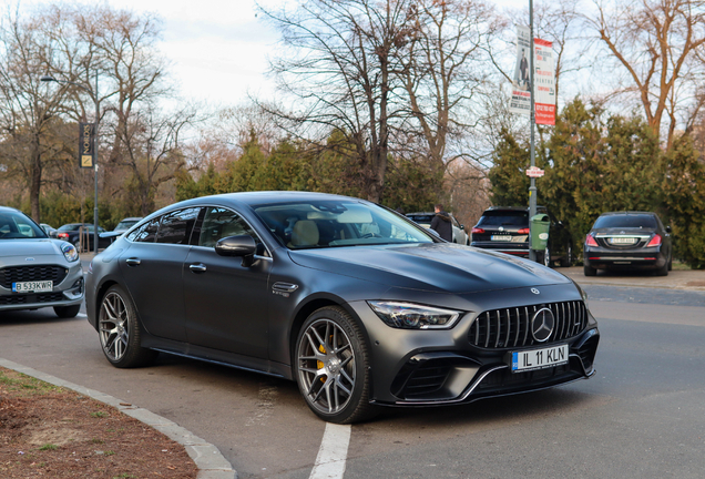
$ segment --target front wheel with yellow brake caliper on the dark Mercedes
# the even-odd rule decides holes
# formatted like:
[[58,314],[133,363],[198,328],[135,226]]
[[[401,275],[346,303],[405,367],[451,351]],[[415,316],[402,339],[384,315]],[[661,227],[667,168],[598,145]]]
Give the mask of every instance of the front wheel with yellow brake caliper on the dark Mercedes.
[[299,391],[316,416],[336,424],[374,416],[367,342],[345,309],[327,306],[311,314],[298,334],[295,355]]

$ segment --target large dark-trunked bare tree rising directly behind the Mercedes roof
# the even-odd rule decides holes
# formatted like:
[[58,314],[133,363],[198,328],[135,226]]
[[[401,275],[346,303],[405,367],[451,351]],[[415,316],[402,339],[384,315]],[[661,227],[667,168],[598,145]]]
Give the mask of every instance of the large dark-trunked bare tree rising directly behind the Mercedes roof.
[[316,139],[318,145],[334,131],[344,134],[347,144],[339,153],[359,164],[364,195],[380,201],[401,110],[395,53],[413,30],[409,3],[311,0],[294,11],[263,11],[286,47],[272,70],[295,99],[288,112],[269,111],[290,122],[290,133]]

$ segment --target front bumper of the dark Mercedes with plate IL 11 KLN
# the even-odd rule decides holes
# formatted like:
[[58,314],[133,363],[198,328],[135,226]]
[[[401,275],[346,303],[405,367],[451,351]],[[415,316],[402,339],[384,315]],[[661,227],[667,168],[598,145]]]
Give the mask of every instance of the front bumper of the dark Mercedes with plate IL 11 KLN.
[[[522,300],[517,299],[518,304]],[[589,317],[575,334],[566,333],[561,339],[551,339],[541,346],[488,348],[477,347],[468,339],[479,316],[472,313],[452,329],[403,330],[392,329],[369,316],[365,303],[350,306],[362,319],[370,337],[370,397],[375,404],[403,407],[467,404],[540,390],[589,378],[595,373],[600,332],[586,309]],[[525,373],[511,371],[510,353],[559,344],[568,345],[566,364]]]

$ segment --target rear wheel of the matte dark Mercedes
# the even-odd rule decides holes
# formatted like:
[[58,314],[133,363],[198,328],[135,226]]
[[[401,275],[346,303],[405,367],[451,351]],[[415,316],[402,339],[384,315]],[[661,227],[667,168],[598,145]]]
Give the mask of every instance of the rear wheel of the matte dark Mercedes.
[[130,296],[117,285],[108,289],[101,300],[98,335],[105,358],[115,367],[144,366],[157,355],[141,346],[142,328],[137,310]]

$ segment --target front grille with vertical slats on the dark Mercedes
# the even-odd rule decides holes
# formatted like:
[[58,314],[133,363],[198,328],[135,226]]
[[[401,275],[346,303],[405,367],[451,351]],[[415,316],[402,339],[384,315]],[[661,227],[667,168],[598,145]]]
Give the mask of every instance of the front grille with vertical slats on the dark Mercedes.
[[[588,326],[588,312],[581,300],[539,304],[481,313],[470,326],[470,344],[481,348],[502,349],[532,346],[531,318],[541,308],[553,313],[555,324],[548,343],[568,339]],[[544,342],[544,343],[546,343]]]

